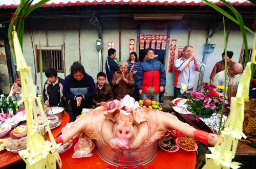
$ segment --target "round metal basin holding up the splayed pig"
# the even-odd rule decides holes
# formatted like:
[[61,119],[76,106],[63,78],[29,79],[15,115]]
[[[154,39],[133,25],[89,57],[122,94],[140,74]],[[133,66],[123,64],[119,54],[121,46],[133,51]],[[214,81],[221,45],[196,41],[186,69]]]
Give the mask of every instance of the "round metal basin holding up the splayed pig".
[[158,150],[158,142],[154,142],[133,152],[123,151],[125,159],[125,163],[123,164],[120,153],[114,152],[97,140],[95,140],[95,145],[96,152],[103,161],[115,166],[122,165],[123,167],[127,167],[128,165],[136,167],[150,163],[156,157]]

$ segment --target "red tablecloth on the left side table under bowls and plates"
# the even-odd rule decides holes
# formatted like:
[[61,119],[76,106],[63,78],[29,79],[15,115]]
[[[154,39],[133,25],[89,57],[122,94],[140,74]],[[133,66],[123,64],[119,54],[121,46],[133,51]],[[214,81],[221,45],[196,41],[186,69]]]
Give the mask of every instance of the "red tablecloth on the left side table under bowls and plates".
[[[69,122],[69,114],[67,112],[64,112],[64,116],[61,119],[59,119],[59,121],[60,121],[60,125],[51,130],[54,138],[60,135],[61,133],[60,130],[64,126],[66,126],[66,124]],[[8,134],[6,134],[1,138],[9,138],[11,131],[12,130],[10,130]],[[50,140],[48,134],[47,134],[47,139]],[[0,152],[0,168],[14,165],[15,163],[20,161],[22,161],[22,158],[19,156],[18,153],[12,153],[7,150],[3,150],[2,152]]]

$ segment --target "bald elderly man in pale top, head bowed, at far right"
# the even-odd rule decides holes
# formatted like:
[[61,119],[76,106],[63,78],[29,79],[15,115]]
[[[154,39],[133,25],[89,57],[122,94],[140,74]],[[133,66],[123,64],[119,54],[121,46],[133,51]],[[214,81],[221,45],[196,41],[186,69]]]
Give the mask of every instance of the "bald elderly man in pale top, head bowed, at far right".
[[[239,63],[232,64],[227,69],[227,83],[232,85],[238,85],[241,73],[243,71],[243,65]],[[224,86],[224,80],[225,80],[225,70],[217,73],[214,77],[214,85],[216,86]]]

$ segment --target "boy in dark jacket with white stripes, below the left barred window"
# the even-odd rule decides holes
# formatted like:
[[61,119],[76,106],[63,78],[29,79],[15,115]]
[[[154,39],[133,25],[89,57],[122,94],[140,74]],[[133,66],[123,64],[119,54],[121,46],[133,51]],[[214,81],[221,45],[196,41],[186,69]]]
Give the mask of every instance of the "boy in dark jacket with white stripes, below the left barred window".
[[55,69],[49,68],[45,71],[47,81],[44,86],[44,102],[45,106],[65,106],[62,94],[62,84],[64,80],[57,75]]

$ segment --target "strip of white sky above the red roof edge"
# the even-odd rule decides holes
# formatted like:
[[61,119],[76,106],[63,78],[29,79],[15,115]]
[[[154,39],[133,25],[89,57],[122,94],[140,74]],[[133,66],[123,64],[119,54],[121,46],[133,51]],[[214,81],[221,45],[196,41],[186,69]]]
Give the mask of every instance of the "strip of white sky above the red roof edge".
[[[84,2],[86,0],[51,0],[49,1],[47,4],[51,4],[51,3],[60,3],[60,2],[63,2],[63,3],[67,3],[67,2],[77,2],[77,1],[80,1],[80,2]],[[94,0],[87,0],[89,2],[93,2]],[[102,0],[99,0],[99,2],[101,2]],[[110,2],[112,0],[105,0],[106,2]],[[115,0],[117,2],[119,2],[119,0]],[[124,2],[128,2],[130,0],[123,0]],[[135,2],[137,0],[134,0]],[[141,2],[146,2],[147,0],[141,0]],[[151,2],[155,2],[157,0],[150,0]],[[161,2],[164,2],[166,0],[158,0],[160,3]],[[183,2],[183,1],[187,1],[187,2],[191,2],[191,1],[194,1],[196,3],[198,2],[201,2],[201,0],[169,0],[169,2],[173,2],[173,1],[177,1],[178,3],[179,2]],[[209,0],[210,2],[219,2],[219,0]],[[245,2],[246,0],[227,0],[228,2]],[[35,4],[36,2],[39,2],[39,0],[34,0],[33,4]],[[11,5],[11,4],[19,4],[20,3],[20,0],[0,0],[0,5],[3,5],[3,4],[6,4],[6,5]]]

